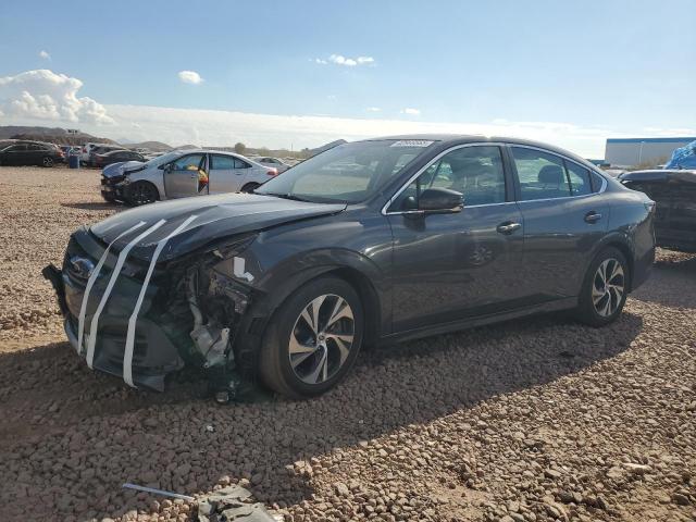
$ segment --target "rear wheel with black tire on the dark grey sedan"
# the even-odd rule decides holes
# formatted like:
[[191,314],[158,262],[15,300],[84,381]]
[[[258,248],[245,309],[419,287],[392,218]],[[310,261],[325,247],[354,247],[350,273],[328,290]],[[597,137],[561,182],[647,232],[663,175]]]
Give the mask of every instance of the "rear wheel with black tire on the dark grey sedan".
[[587,269],[576,319],[589,326],[606,326],[621,314],[630,281],[629,262],[620,250],[601,250]]

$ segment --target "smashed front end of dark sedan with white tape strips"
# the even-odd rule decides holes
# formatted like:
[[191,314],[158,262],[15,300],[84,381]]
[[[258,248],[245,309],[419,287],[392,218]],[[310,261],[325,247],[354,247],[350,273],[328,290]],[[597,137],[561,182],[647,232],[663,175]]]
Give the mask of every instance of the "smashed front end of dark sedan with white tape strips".
[[253,380],[253,364],[235,355],[253,290],[234,277],[236,254],[253,237],[158,263],[166,241],[147,257],[124,256],[126,249],[111,251],[83,228],[62,270],[49,265],[44,275],[71,344],[90,368],[161,391],[167,374],[189,365],[206,372],[217,400],[228,400]]

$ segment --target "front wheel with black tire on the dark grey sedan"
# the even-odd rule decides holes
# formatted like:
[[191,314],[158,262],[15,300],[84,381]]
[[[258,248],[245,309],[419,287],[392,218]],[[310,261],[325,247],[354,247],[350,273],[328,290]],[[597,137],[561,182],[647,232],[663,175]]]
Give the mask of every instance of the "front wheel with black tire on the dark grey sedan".
[[[315,316],[319,327],[311,324]],[[324,394],[350,372],[363,333],[363,309],[355,288],[333,276],[311,281],[273,314],[262,339],[261,380],[296,399]]]

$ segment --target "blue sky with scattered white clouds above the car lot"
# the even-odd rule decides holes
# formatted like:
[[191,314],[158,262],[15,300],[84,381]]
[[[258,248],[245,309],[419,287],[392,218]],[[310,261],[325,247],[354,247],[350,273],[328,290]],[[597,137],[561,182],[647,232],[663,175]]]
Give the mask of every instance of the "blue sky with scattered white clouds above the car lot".
[[446,132],[592,158],[696,136],[695,0],[101,5],[0,4],[0,125],[294,149]]

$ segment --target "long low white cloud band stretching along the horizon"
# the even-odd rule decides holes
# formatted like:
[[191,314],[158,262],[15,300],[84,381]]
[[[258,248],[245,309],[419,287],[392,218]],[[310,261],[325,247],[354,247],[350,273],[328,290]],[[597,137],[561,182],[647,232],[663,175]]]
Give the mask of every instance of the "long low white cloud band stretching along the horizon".
[[[295,149],[318,147],[334,139],[363,139],[398,134],[478,134],[535,139],[564,147],[585,158],[604,157],[605,140],[626,136],[616,130],[581,127],[558,122],[436,123],[386,119],[348,119],[325,115],[275,115],[232,111],[170,109],[163,107],[108,105],[116,120],[110,129],[114,138],[127,136],[134,141],[157,139],[172,145],[200,144]],[[135,129],[132,122],[138,122]],[[692,129],[692,135],[696,130]],[[688,134],[687,134],[688,135]]]

